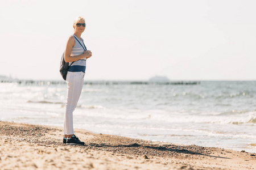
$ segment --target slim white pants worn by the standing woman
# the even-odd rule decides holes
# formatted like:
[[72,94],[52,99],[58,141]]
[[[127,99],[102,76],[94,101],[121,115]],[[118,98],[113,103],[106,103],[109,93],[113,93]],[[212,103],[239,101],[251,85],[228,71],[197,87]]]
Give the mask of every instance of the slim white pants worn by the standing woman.
[[73,111],[75,111],[77,101],[81,95],[82,84],[84,84],[84,73],[68,71],[66,82],[68,92],[64,115],[64,135],[71,135],[74,134]]

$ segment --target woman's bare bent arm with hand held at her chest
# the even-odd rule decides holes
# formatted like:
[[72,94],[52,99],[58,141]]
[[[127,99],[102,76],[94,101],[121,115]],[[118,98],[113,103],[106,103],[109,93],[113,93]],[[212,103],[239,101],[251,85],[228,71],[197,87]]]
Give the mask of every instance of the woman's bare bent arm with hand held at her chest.
[[65,54],[64,54],[65,62],[77,61],[81,58],[90,58],[90,56],[92,56],[92,52],[90,52],[89,50],[84,51],[84,53],[80,54],[79,56],[70,56],[74,45],[75,45],[75,38],[73,36],[70,36],[65,48]]

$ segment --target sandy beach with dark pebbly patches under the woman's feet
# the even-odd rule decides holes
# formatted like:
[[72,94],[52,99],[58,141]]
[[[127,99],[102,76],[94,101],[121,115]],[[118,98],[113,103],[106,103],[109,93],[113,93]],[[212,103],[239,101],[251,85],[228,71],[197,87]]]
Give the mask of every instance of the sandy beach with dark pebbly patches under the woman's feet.
[[245,151],[173,145],[76,129],[85,146],[62,142],[57,127],[0,121],[0,169],[256,169]]

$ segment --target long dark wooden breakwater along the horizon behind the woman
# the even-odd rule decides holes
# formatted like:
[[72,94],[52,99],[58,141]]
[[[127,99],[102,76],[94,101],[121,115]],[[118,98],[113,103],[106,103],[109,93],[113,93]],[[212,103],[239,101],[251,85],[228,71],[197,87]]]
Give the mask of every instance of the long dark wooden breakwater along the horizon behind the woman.
[[[18,83],[24,85],[56,85],[56,84],[66,84],[64,80],[0,80],[0,83]],[[198,85],[199,81],[170,81],[170,82],[150,82],[150,81],[86,81],[84,84],[88,85]]]

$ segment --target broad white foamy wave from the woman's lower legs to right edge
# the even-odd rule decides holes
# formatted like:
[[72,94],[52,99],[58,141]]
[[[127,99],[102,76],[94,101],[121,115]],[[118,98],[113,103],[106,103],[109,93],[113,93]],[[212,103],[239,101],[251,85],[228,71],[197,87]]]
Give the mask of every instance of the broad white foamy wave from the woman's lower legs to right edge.
[[[87,110],[87,111],[86,111]],[[218,112],[168,112],[164,110],[141,110],[108,108],[103,105],[80,105],[76,114],[90,118],[106,118],[123,122],[155,122],[156,124],[253,124],[256,125],[256,112],[242,114],[220,114]]]

